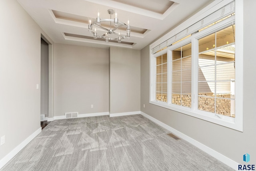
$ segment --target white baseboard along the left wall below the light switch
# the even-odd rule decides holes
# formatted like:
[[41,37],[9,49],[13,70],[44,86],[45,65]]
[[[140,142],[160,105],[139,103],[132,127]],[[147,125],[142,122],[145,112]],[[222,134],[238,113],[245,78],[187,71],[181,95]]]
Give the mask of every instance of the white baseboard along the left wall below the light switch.
[[12,159],[20,150],[22,150],[36,135],[38,135],[42,131],[42,128],[38,128],[34,133],[32,133],[29,137],[27,137],[22,143],[20,143],[17,147],[15,147],[8,155],[6,155],[3,159],[0,160],[0,169]]

